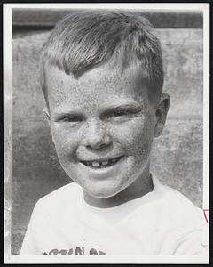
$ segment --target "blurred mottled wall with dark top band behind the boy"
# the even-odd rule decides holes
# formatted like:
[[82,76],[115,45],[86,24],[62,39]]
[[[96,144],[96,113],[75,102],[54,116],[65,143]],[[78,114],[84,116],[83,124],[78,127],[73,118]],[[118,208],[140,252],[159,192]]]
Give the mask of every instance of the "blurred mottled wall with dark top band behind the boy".
[[[39,50],[55,23],[76,10],[12,10],[12,254],[19,254],[38,198],[67,184],[43,115]],[[162,42],[170,111],[154,141],[152,173],[202,207],[202,13],[140,12]]]

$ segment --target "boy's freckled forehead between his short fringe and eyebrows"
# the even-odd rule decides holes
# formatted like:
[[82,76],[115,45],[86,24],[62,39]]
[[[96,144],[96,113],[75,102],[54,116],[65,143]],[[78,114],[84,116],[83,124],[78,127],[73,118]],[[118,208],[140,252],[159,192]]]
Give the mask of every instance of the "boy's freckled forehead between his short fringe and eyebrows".
[[88,99],[126,96],[136,101],[144,101],[147,96],[141,71],[133,68],[121,71],[119,68],[110,69],[107,65],[90,69],[79,78],[51,66],[46,71],[46,85],[49,97],[58,104],[69,98],[82,98],[83,95]]

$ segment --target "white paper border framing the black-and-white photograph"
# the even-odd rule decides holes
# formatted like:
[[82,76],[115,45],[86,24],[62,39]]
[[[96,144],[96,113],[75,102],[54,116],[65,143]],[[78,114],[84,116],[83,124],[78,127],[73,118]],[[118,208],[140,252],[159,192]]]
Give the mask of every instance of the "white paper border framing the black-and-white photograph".
[[[12,9],[143,9],[149,11],[203,13],[203,210],[209,210],[209,3],[82,3],[82,4],[4,4],[4,263],[209,263],[202,256],[101,256],[12,255],[11,178],[12,178]],[[208,233],[204,233],[209,236]]]

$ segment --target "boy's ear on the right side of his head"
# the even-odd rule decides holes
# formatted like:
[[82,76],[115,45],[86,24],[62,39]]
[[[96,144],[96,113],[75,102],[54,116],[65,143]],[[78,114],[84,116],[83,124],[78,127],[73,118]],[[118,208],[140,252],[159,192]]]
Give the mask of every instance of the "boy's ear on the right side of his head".
[[170,95],[162,93],[162,97],[155,111],[156,124],[154,128],[154,137],[158,137],[162,134],[163,127],[166,122],[167,112],[170,108]]

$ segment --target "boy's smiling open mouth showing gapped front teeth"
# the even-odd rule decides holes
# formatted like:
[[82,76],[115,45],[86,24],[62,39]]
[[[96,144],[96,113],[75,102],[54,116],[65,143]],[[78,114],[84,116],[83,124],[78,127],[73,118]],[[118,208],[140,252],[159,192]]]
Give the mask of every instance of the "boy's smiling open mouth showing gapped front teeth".
[[88,161],[80,161],[85,166],[89,166],[92,169],[102,169],[109,166],[114,166],[118,161],[120,161],[124,156],[120,156],[117,158],[110,158],[105,160],[88,160]]

